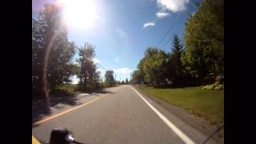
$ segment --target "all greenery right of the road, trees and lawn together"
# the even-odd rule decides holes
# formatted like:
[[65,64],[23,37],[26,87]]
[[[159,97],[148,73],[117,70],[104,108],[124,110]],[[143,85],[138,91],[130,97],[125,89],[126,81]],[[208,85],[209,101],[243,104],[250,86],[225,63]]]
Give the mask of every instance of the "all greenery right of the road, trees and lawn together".
[[223,20],[224,1],[198,4],[198,11],[185,24],[184,42],[174,34],[170,51],[148,47],[131,82],[211,123],[223,122]]

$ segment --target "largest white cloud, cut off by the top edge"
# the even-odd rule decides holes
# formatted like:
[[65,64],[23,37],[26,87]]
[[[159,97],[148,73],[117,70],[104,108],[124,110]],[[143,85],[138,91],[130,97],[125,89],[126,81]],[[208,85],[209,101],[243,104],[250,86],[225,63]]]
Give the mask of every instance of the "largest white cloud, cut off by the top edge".
[[157,2],[163,10],[170,10],[175,13],[186,10],[186,4],[189,3],[189,0],[157,0]]

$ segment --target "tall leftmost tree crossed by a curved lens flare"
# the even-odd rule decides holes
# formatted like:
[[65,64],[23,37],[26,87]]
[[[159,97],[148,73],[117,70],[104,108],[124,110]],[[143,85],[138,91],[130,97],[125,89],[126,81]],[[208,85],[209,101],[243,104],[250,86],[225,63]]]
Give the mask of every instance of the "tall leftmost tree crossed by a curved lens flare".
[[74,43],[68,42],[66,28],[61,25],[61,10],[46,4],[32,21],[32,92],[48,96],[48,90],[70,82]]

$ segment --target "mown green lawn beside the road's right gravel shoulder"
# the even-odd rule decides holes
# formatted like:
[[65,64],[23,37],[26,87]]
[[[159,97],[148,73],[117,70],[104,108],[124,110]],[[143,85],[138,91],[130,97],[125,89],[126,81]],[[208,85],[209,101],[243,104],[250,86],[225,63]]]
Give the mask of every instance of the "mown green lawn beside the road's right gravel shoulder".
[[202,90],[202,86],[179,89],[141,86],[141,89],[174,106],[181,106],[190,114],[205,118],[210,124],[224,122],[224,90]]

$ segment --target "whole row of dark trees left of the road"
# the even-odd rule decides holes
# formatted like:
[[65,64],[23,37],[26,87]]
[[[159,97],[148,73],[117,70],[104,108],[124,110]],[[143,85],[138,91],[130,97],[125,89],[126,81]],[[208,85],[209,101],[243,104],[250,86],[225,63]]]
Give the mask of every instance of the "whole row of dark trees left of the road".
[[[114,86],[113,70],[106,70],[106,80],[102,82],[93,60],[95,46],[85,42],[85,46],[78,47],[68,40],[61,13],[58,6],[46,4],[38,20],[32,21],[33,96],[54,94],[60,86],[69,85],[74,75],[79,79],[77,89],[80,91]],[[78,58],[75,59],[76,53]]]

